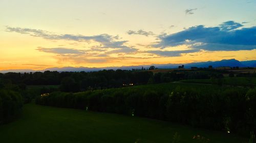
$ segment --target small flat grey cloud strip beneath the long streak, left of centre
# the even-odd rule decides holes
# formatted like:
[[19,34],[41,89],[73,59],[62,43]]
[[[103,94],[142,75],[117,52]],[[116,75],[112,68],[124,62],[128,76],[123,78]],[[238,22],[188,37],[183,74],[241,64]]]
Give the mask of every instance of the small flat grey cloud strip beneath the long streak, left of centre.
[[48,53],[57,53],[57,54],[84,54],[84,50],[72,49],[72,48],[44,48],[44,47],[37,47],[38,51],[48,52]]

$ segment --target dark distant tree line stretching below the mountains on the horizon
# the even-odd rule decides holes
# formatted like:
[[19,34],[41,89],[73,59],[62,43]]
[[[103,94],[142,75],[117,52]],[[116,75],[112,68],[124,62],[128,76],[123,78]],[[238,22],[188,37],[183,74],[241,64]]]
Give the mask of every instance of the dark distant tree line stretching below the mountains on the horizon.
[[0,79],[20,87],[25,85],[61,85],[62,92],[80,92],[95,89],[121,88],[127,85],[163,83],[184,79],[222,78],[215,70],[186,71],[177,70],[168,73],[155,73],[151,70],[102,70],[97,72],[57,72],[0,73]]

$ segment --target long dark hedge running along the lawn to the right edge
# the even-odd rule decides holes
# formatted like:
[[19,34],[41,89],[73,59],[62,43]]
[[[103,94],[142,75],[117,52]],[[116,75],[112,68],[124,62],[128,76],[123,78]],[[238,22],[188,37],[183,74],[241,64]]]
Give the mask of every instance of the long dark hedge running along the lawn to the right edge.
[[256,131],[256,90],[161,83],[42,94],[37,104],[120,113],[248,135]]

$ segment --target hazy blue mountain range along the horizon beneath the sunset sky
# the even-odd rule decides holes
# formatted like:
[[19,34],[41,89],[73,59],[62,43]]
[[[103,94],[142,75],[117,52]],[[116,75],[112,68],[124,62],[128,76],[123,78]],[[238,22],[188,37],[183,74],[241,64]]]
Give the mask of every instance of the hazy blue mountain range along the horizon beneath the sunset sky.
[[122,66],[122,67],[103,67],[103,68],[88,68],[88,67],[53,67],[53,68],[47,68],[44,70],[31,70],[31,69],[15,69],[15,70],[0,70],[0,73],[7,73],[7,72],[44,72],[44,71],[70,71],[70,72],[91,72],[91,71],[99,71],[99,70],[132,70],[132,69],[141,69],[142,67],[147,69],[150,66],[155,66],[159,69],[173,69],[178,68],[178,66],[184,65],[184,68],[188,69],[191,67],[198,67],[198,68],[204,68],[208,66],[212,66],[214,68],[216,67],[256,67],[256,60],[252,61],[238,61],[236,59],[230,59],[230,60],[221,60],[221,61],[208,61],[208,62],[196,62],[196,63],[188,63],[188,64],[152,64],[152,65],[139,65],[139,66]]

